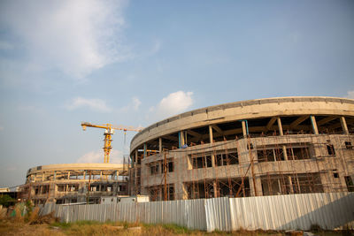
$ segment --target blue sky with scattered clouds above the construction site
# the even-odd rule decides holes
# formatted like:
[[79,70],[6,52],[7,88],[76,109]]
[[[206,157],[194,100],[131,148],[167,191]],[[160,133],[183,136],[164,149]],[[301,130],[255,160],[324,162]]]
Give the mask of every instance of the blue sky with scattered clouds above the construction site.
[[[354,1],[0,1],[0,187],[102,163],[104,130],[293,95],[354,98]],[[135,132],[117,132],[112,163]]]

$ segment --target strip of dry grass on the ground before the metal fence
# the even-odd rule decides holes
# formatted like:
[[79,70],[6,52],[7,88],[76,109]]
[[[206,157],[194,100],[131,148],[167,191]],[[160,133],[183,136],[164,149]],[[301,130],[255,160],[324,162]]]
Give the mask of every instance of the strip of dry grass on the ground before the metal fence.
[[[35,210],[34,210],[35,212]],[[117,227],[120,226],[120,227]],[[140,230],[129,230],[132,227],[141,227]],[[341,232],[330,232],[330,235],[341,235]],[[63,235],[95,235],[95,236],[145,236],[145,235],[235,235],[235,236],[273,236],[284,235],[283,232],[264,232],[264,231],[237,231],[237,232],[203,232],[193,231],[178,225],[144,225],[128,224],[122,222],[99,223],[93,221],[80,221],[74,224],[52,223],[41,225],[30,225],[14,220],[0,220],[0,235],[25,235],[25,236],[63,236]],[[326,233],[320,235],[327,235]],[[329,235],[329,234],[328,234]]]

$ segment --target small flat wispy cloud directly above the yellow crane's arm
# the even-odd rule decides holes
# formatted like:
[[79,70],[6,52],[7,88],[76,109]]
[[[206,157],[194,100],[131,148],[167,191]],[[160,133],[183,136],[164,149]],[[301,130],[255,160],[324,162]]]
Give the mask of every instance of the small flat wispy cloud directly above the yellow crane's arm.
[[76,110],[81,107],[87,107],[90,110],[99,112],[110,112],[112,109],[106,105],[104,100],[101,99],[87,99],[83,97],[76,97],[70,104],[66,106],[67,110]]

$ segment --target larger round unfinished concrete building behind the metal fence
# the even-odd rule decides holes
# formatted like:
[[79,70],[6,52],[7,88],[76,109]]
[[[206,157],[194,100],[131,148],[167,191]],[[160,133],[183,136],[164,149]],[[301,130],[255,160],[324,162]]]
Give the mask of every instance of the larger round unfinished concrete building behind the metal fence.
[[191,110],[131,141],[151,201],[353,191],[354,100],[257,99]]

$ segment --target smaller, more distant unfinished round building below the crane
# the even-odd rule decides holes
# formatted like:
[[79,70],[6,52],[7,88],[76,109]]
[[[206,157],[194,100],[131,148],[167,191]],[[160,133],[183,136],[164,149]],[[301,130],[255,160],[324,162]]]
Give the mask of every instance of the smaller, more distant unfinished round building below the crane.
[[21,199],[45,202],[98,203],[101,196],[127,195],[127,164],[50,164],[27,171]]

